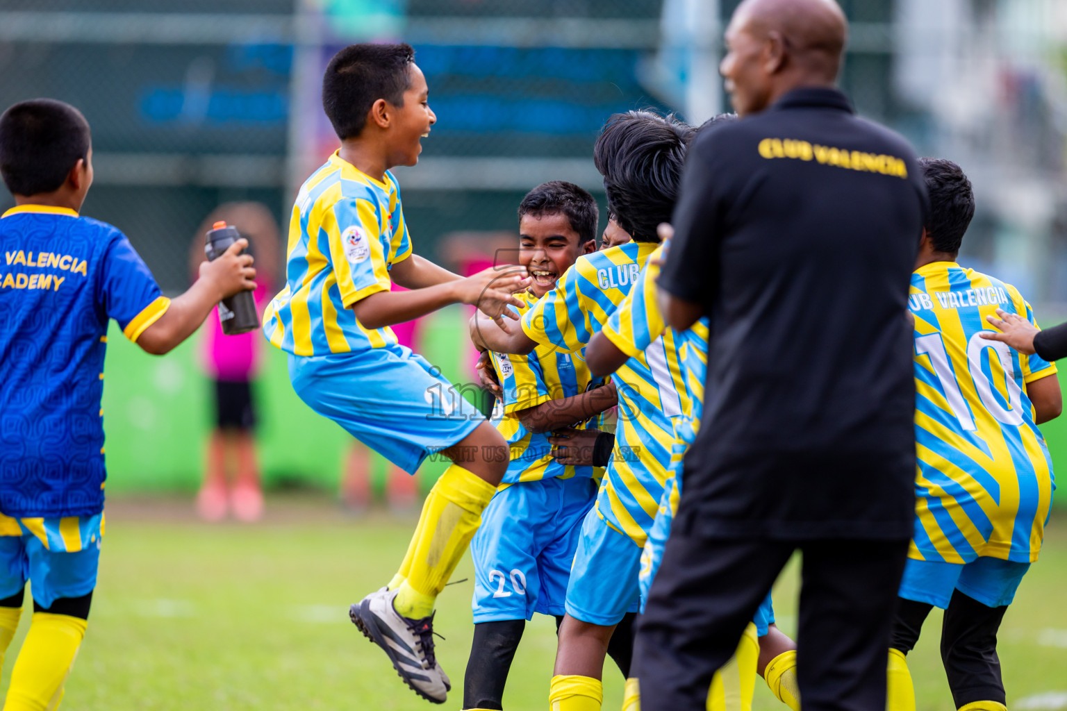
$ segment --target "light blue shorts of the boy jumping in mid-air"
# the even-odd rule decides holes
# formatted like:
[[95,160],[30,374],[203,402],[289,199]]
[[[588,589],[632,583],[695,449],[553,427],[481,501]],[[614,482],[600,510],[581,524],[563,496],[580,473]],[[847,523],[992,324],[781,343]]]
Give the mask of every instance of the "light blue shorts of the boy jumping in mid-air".
[[308,407],[410,473],[485,421],[436,368],[403,345],[290,355],[289,379]]

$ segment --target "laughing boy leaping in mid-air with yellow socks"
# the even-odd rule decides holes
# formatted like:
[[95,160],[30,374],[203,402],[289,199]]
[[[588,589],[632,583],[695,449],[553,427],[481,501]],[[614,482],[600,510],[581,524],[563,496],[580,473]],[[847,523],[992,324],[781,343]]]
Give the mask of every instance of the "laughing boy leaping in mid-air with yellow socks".
[[[443,306],[507,305],[525,268],[461,278],[412,254],[389,168],[414,165],[436,120],[409,45],[352,45],[330,61],[322,107],[340,149],[301,187],[289,223],[286,286],[264,333],[288,354],[293,389],[315,411],[414,473],[433,452],[452,460],[434,484],[388,585],[350,609],[419,696],[451,688],[433,653],[433,605],[507,471],[507,442],[451,384],[397,343],[392,324]],[[392,291],[393,282],[409,291]]]

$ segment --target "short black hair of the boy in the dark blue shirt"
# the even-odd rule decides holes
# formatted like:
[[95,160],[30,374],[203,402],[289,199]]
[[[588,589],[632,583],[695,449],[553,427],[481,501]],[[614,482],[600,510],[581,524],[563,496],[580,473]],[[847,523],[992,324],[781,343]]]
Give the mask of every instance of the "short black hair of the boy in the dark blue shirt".
[[15,195],[59,190],[91,145],[89,122],[63,101],[20,101],[0,116],[0,174]]

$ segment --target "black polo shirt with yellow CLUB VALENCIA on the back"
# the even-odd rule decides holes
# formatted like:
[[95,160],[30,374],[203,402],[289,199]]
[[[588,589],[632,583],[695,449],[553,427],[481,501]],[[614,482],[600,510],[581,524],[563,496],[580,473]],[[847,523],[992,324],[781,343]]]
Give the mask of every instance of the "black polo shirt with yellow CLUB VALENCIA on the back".
[[837,90],[794,91],[697,136],[658,281],[711,321],[675,526],[911,536],[905,311],[926,205],[908,143]]

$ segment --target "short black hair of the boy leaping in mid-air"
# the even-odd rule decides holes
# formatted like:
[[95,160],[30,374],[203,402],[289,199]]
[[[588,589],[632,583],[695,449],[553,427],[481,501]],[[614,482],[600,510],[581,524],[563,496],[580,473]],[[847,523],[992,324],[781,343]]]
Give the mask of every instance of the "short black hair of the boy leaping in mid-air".
[[333,55],[322,76],[322,109],[337,138],[354,139],[367,123],[378,99],[403,106],[411,87],[411,45],[349,45]]

